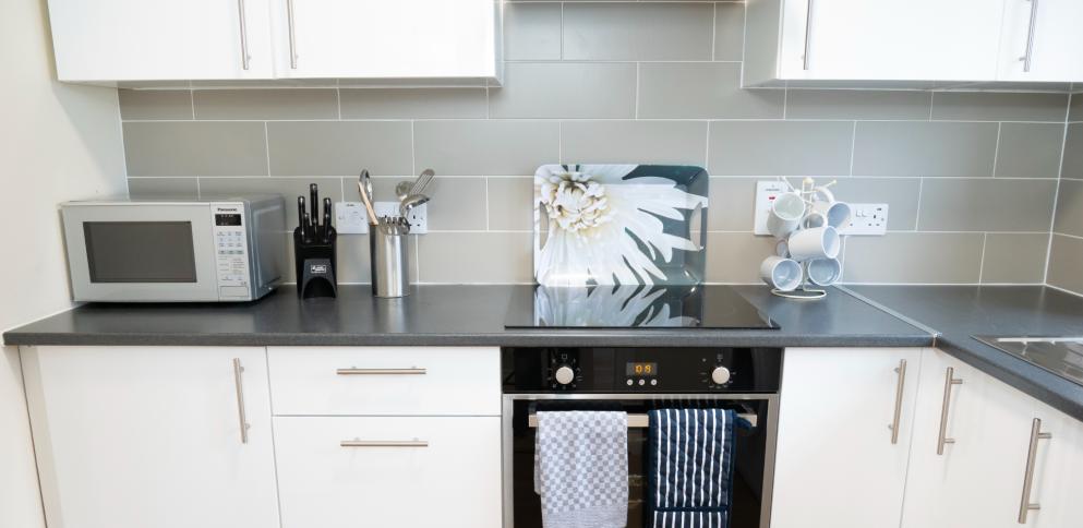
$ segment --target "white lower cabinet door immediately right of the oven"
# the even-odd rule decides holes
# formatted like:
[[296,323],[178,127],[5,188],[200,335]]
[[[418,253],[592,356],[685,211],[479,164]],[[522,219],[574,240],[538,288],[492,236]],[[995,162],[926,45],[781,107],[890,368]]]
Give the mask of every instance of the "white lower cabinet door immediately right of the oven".
[[772,528],[899,526],[920,358],[918,348],[786,349]]

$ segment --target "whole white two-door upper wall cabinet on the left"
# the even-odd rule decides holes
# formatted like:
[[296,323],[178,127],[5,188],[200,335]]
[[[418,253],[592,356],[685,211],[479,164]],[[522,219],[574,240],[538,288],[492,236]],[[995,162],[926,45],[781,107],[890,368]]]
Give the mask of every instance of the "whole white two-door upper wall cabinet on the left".
[[[503,0],[49,0],[61,81],[501,77]],[[364,82],[364,81],[362,81]]]

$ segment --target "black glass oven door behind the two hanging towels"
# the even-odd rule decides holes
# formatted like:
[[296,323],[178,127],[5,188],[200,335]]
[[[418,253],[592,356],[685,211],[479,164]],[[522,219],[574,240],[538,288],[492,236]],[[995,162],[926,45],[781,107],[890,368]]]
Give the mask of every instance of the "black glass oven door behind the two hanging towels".
[[778,437],[777,394],[505,394],[504,528],[540,528],[541,497],[534,492],[534,427],[531,416],[553,410],[624,410],[628,412],[628,527],[649,527],[646,412],[651,409],[726,408],[754,424],[735,428],[731,528],[768,528],[774,448]]

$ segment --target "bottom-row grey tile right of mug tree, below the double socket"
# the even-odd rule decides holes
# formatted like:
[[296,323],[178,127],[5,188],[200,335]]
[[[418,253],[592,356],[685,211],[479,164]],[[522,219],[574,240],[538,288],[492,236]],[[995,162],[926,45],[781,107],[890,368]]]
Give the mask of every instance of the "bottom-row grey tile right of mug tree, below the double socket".
[[891,232],[850,237],[846,283],[976,284],[984,233]]

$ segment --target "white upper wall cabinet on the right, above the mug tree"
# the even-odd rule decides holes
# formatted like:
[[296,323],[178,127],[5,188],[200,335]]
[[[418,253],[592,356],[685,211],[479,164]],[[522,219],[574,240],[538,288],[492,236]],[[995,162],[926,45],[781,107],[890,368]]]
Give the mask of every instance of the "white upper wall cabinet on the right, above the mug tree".
[[1083,79],[1078,0],[749,0],[747,17],[748,86]]

